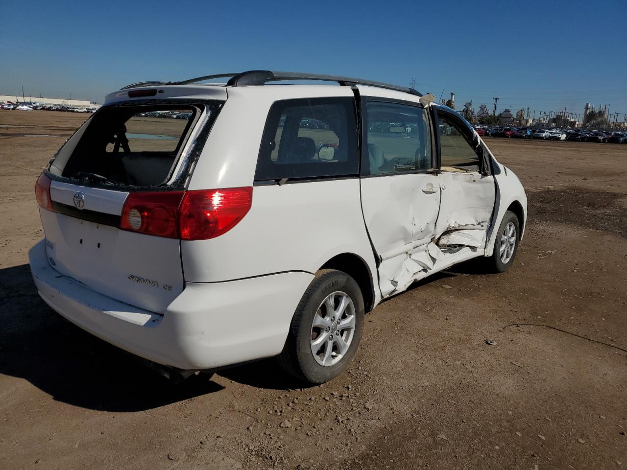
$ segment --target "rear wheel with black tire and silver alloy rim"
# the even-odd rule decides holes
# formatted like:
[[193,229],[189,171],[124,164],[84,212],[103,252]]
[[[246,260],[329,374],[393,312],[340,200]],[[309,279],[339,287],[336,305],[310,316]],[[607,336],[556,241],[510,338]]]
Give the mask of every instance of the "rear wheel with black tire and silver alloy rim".
[[[335,310],[330,308],[331,302]],[[340,318],[335,318],[337,312]],[[324,384],[334,379],[348,367],[357,352],[365,315],[364,297],[355,279],[342,271],[321,269],[298,303],[285,346],[278,356],[281,367],[310,384]],[[320,326],[314,325],[314,320]],[[327,341],[329,337],[332,340]],[[340,348],[346,345],[342,352]],[[315,348],[317,355],[314,355]]]

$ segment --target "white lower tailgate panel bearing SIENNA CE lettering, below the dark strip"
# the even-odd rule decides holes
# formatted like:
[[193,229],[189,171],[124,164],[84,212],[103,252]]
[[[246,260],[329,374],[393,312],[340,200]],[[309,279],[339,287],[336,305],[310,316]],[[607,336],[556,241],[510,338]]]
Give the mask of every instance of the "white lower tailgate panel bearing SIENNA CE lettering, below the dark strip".
[[[48,241],[46,258],[54,260],[58,273],[156,313],[163,313],[183,290],[179,240],[120,230],[41,208],[40,216]],[[158,286],[137,283],[130,275],[150,279]]]

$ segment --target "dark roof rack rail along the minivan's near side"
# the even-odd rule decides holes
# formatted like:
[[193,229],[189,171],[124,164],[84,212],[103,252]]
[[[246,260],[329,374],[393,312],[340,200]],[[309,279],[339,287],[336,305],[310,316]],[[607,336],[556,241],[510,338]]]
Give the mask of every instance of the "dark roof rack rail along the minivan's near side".
[[221,73],[219,75],[199,76],[190,80],[177,81],[172,85],[189,85],[203,80],[211,80],[212,78],[229,78],[226,83],[228,86],[253,86],[265,85],[268,81],[284,81],[284,80],[319,80],[319,81],[337,81],[340,85],[355,86],[368,85],[377,88],[387,88],[388,90],[403,91],[417,97],[423,96],[414,88],[408,86],[390,85],[381,81],[363,80],[362,78],[352,78],[349,76],[337,75],[321,75],[319,73],[300,73],[300,72],[280,72],[271,70],[248,70],[242,73]]

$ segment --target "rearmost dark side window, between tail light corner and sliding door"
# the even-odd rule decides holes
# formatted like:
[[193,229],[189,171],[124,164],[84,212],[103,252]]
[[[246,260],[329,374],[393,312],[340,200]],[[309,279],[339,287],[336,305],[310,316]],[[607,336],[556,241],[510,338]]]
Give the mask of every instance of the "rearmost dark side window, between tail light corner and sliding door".
[[352,98],[282,100],[270,108],[256,181],[357,175]]

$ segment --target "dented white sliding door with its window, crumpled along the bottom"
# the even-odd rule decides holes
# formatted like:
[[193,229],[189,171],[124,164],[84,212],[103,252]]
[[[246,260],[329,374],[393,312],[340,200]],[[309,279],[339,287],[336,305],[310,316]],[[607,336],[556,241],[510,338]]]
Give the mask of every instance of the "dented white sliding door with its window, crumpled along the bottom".
[[387,296],[433,269],[429,243],[440,209],[428,113],[419,103],[362,104],[361,199],[364,221],[379,259],[379,286]]

